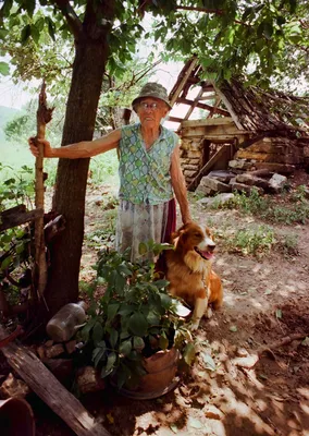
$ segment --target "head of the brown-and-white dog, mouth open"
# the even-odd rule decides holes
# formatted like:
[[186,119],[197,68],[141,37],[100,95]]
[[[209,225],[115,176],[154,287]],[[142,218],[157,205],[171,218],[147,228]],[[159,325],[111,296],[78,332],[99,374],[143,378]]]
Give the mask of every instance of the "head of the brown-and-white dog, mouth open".
[[213,256],[215,243],[208,227],[202,228],[196,222],[188,222],[173,234],[176,250],[184,252],[194,251],[206,261]]

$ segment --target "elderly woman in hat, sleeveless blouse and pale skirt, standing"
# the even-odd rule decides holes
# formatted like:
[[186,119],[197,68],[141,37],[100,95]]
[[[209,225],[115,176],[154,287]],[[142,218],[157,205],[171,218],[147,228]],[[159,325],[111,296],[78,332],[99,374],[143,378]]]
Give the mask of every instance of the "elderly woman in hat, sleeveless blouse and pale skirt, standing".
[[[175,201],[180,204],[183,223],[190,221],[187,191],[180,165],[177,135],[163,128],[161,120],[171,105],[166,89],[146,84],[132,102],[139,123],[125,125],[95,141],[83,141],[59,148],[45,145],[45,157],[79,159],[113,148],[119,149],[120,206],[116,226],[118,251],[132,249],[132,261],[140,242],[166,242],[175,230]],[[37,147],[29,140],[30,150]]]

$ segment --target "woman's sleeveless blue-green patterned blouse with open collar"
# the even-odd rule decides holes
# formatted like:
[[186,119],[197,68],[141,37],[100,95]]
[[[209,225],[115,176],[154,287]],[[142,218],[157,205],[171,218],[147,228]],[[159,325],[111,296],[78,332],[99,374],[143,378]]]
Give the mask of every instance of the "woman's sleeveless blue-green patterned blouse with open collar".
[[177,143],[177,135],[161,125],[160,136],[146,149],[140,123],[123,126],[119,144],[120,199],[158,205],[173,198],[170,167]]

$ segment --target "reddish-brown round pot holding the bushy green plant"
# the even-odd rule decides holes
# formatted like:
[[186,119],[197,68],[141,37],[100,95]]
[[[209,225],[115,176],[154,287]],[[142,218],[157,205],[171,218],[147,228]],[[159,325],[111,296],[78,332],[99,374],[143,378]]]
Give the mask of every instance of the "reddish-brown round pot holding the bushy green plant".
[[161,397],[178,384],[176,377],[180,352],[175,348],[165,351],[158,351],[144,361],[147,374],[140,377],[137,389],[128,390],[121,388],[120,392],[128,398],[147,400]]

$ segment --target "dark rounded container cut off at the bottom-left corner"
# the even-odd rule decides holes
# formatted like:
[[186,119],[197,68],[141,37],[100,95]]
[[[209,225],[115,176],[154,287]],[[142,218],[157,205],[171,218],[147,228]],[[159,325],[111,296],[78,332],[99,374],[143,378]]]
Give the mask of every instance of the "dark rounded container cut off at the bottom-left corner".
[[1,436],[35,436],[34,414],[27,401],[21,398],[0,400]]

